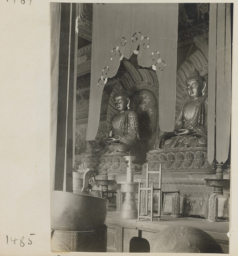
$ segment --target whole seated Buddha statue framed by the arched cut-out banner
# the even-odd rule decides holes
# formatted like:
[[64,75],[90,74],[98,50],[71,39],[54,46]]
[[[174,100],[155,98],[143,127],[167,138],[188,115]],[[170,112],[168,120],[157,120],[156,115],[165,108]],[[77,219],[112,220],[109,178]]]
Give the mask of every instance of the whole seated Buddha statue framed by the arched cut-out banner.
[[136,112],[130,110],[128,93],[122,88],[114,94],[115,107],[118,111],[110,119],[109,136],[100,141],[99,146],[92,146],[86,141],[86,153],[107,154],[114,152],[136,153],[139,149],[139,130]]

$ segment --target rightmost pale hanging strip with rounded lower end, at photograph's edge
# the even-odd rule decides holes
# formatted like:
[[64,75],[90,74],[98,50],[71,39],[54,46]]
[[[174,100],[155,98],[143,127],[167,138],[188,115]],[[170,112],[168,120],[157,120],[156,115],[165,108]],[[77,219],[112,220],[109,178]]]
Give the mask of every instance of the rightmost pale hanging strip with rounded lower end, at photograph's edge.
[[[217,143],[218,163],[225,163],[229,154],[231,129],[231,9],[230,3],[218,3],[217,41]],[[224,32],[221,32],[224,31]],[[222,43],[221,43],[222,42]],[[223,59],[222,59],[223,58]]]

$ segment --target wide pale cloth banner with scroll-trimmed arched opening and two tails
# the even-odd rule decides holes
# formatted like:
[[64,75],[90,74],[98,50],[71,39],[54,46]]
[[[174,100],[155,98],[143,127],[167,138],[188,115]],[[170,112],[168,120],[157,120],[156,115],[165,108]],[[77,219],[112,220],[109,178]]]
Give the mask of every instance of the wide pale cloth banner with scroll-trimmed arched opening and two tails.
[[173,131],[177,16],[177,3],[93,4],[92,67],[86,140],[94,140],[98,130],[104,84],[108,78],[116,75],[122,58],[129,59],[133,53],[138,55],[140,66],[152,67],[156,71],[160,84],[160,129]]

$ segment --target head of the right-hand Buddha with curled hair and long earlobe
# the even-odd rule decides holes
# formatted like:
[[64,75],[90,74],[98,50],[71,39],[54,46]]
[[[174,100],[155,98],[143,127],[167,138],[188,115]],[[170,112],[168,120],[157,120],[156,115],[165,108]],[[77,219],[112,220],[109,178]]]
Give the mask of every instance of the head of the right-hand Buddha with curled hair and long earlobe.
[[200,76],[196,68],[192,69],[192,72],[185,81],[190,98],[194,99],[203,95],[203,89],[206,86],[205,78]]

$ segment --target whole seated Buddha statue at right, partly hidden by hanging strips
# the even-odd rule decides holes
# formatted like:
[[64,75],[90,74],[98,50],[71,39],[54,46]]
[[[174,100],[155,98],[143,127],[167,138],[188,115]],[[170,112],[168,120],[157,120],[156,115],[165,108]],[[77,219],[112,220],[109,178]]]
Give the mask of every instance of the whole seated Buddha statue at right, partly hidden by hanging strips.
[[155,145],[156,149],[207,146],[207,96],[205,78],[195,68],[186,79],[189,100],[183,103],[175,122],[174,131],[165,132]]

